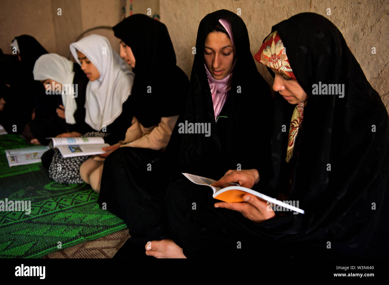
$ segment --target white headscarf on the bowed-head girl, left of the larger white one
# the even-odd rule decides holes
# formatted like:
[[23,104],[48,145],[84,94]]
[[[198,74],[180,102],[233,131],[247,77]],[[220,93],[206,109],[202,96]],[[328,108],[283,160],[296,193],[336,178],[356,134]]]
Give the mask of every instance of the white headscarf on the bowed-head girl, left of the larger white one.
[[[77,110],[77,103],[73,96],[75,94],[72,85],[74,79],[73,61],[55,53],[43,54],[35,61],[33,74],[34,80],[51,79],[59,84],[67,85],[67,88],[62,88],[61,92],[63,107],[65,107],[65,120],[68,124],[75,124],[74,112]],[[49,84],[53,83],[49,82]],[[54,90],[55,88],[56,86],[54,86]]]

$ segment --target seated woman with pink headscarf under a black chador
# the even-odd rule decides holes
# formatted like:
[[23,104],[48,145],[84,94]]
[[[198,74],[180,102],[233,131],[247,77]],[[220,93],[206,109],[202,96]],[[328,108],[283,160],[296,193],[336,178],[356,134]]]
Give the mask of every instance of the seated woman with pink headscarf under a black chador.
[[[216,215],[226,210],[215,209],[212,191],[193,184],[182,172],[218,179],[230,169],[241,168],[256,181],[255,187],[260,187],[269,168],[269,101],[270,88],[252,58],[244,21],[227,10],[205,16],[198,28],[185,112],[166,148],[168,161],[174,164],[152,163],[148,172],[160,171],[159,178],[149,187],[120,196],[120,201],[99,198],[102,206],[104,202],[107,206],[119,204],[107,209],[124,219],[130,231],[131,238],[116,257],[196,256],[200,236],[218,226],[204,208],[192,210],[193,203],[209,206]],[[181,212],[177,215],[177,211]],[[240,213],[231,211],[230,215]],[[182,223],[178,216],[184,219]],[[197,230],[189,220],[200,217],[209,224]],[[219,230],[222,240],[233,236]],[[186,234],[193,232],[195,243],[186,239]],[[166,248],[173,251],[166,252]]]

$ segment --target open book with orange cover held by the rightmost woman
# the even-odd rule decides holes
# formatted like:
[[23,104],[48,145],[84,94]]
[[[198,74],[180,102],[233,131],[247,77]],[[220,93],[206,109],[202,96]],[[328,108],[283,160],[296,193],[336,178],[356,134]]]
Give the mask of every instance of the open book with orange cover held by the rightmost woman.
[[185,175],[186,178],[191,180],[193,183],[198,184],[198,185],[207,185],[212,188],[214,191],[213,197],[215,199],[224,201],[224,202],[244,202],[243,201],[243,196],[244,194],[252,194],[254,196],[257,196],[258,198],[264,200],[264,201],[269,201],[270,203],[273,203],[275,205],[279,205],[282,208],[289,209],[292,211],[296,211],[298,213],[304,213],[304,210],[301,210],[300,208],[293,206],[289,203],[282,202],[280,200],[277,200],[275,198],[272,198],[270,196],[266,196],[265,194],[259,193],[257,191],[254,191],[252,189],[238,186],[238,184],[233,183],[233,186],[229,186],[226,188],[221,188],[221,187],[215,187],[210,184],[216,182],[216,180],[210,179],[210,178],[205,178],[202,176],[198,175],[193,175],[189,173],[182,173]]

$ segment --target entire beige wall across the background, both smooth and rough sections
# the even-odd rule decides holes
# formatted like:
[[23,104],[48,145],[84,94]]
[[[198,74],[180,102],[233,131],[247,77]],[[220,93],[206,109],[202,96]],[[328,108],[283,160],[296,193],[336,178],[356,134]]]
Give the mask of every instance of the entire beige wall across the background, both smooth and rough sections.
[[[382,96],[389,110],[389,0],[312,0],[311,11],[328,17],[342,32],[351,51],[371,85]],[[130,0],[2,0],[0,10],[0,47],[11,53],[9,44],[21,34],[35,37],[49,52],[67,56],[69,44],[82,31],[94,26],[113,26],[125,14],[130,15]],[[241,17],[249,31],[251,52],[258,51],[272,26],[294,14],[309,12],[308,0],[133,0],[132,11],[159,15],[168,27],[177,55],[177,64],[190,76],[192,47],[200,20],[218,9],[233,12],[241,9]],[[62,16],[57,9],[62,9]],[[331,8],[331,16],[326,9]],[[96,30],[108,37],[118,50],[112,30]],[[371,47],[377,54],[371,54]],[[272,78],[257,64],[269,84]]]

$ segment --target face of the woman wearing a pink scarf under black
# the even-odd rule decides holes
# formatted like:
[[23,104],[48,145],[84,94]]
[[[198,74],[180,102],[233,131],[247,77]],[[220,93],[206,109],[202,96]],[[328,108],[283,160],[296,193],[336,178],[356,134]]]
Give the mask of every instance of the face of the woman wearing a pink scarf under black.
[[234,58],[234,48],[225,33],[214,31],[207,35],[204,60],[214,79],[223,79],[230,73]]

